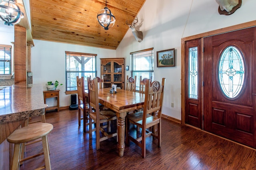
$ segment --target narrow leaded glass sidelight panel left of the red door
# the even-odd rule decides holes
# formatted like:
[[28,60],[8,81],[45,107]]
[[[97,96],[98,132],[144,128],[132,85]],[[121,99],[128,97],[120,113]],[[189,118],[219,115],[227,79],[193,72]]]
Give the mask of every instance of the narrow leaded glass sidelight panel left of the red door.
[[188,97],[198,99],[198,48],[189,48]]

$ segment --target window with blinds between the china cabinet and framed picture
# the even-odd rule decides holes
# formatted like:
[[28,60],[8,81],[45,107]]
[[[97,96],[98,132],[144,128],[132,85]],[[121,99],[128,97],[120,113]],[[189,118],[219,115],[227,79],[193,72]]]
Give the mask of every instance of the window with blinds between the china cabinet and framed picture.
[[154,48],[130,53],[131,76],[136,75],[136,90],[139,90],[140,76],[142,79],[154,80]]

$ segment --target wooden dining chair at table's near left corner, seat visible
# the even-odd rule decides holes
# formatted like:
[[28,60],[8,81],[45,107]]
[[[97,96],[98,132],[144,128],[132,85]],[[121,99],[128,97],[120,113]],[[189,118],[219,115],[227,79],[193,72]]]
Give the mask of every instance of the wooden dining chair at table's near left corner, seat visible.
[[[98,81],[97,78],[93,80],[87,77],[88,82],[88,101],[89,101],[89,138],[92,139],[92,121],[96,125],[96,149],[100,149],[100,142],[108,138],[112,138],[117,135],[117,131],[111,132],[106,126],[101,126],[109,121],[116,120],[116,113],[109,109],[100,111],[99,109],[99,97],[98,97]],[[94,111],[92,111],[94,108]],[[106,131],[105,128],[108,130]],[[100,132],[102,135],[100,136]]]

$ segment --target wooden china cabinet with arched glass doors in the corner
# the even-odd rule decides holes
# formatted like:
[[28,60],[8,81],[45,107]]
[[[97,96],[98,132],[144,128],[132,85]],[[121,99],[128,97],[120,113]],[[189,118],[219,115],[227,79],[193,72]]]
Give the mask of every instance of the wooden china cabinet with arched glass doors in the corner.
[[124,58],[101,58],[100,64],[104,88],[110,88],[115,84],[124,89]]

